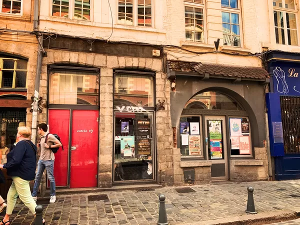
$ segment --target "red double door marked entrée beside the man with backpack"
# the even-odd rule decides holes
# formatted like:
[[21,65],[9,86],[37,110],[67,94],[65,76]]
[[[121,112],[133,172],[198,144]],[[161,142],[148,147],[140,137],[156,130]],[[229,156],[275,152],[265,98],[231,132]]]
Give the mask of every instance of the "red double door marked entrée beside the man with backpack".
[[98,116],[97,110],[48,110],[49,132],[59,135],[64,148],[55,153],[56,186],[97,186]]

